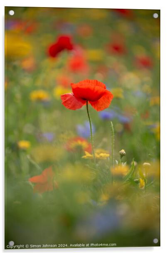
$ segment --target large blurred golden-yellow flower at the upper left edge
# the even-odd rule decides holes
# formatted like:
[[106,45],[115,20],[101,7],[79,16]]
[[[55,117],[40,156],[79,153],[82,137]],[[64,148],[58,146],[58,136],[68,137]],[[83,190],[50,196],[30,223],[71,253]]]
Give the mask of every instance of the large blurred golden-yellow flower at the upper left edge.
[[32,51],[32,46],[20,34],[7,32],[5,35],[5,54],[7,57],[25,57]]

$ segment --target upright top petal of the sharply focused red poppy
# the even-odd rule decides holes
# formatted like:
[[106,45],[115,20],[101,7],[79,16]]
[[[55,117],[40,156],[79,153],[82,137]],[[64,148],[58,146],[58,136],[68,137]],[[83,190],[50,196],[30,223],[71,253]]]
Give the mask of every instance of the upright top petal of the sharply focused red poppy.
[[83,84],[71,84],[72,91],[77,98],[85,99],[88,101],[97,101],[104,94],[106,89],[101,86],[94,86],[84,82]]

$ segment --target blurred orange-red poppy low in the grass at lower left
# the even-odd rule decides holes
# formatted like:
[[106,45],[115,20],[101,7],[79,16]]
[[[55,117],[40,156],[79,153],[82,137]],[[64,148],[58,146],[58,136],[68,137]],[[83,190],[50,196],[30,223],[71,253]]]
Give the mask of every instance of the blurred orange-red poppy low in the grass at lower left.
[[52,166],[45,169],[41,175],[29,178],[29,181],[35,183],[34,192],[43,193],[46,191],[52,191],[54,190],[54,187],[58,187],[57,183],[54,181]]

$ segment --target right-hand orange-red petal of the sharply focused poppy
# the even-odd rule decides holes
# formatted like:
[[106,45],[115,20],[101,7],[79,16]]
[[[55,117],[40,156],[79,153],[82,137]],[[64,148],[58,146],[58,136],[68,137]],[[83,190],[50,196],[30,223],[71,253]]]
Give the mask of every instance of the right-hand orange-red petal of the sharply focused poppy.
[[105,90],[105,93],[98,101],[89,101],[89,103],[94,109],[96,109],[97,111],[101,111],[110,106],[112,99],[113,94],[110,91]]

